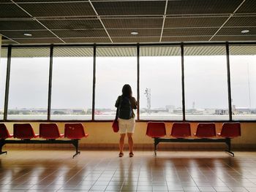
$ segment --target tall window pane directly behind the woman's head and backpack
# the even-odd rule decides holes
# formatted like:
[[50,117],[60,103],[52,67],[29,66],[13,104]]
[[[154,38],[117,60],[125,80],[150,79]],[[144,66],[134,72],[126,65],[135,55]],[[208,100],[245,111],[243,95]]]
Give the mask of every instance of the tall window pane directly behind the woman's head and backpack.
[[132,96],[137,98],[136,50],[136,47],[97,47],[96,120],[115,118],[116,99],[124,84],[132,86]]

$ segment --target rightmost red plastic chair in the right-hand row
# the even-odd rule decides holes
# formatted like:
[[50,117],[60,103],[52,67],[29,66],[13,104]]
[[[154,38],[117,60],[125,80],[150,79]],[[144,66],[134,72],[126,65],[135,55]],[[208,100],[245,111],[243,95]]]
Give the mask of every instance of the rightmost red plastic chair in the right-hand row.
[[217,133],[220,137],[234,138],[241,136],[241,125],[240,123],[223,123],[222,131]]

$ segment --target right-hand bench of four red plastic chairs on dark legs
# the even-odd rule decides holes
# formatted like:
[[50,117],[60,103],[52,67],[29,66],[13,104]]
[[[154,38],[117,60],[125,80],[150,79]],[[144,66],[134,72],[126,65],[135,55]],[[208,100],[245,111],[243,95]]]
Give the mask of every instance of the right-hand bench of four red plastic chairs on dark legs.
[[[166,136],[164,122],[148,122],[146,135],[154,139],[154,154],[157,155],[157,145],[159,142],[225,142],[230,155],[234,156],[231,151],[231,139],[241,136],[240,123],[223,123],[222,130],[216,133],[214,123],[198,123],[197,131],[192,137],[190,123],[173,123],[170,136],[176,139],[163,138]],[[217,137],[218,136],[218,137]]]

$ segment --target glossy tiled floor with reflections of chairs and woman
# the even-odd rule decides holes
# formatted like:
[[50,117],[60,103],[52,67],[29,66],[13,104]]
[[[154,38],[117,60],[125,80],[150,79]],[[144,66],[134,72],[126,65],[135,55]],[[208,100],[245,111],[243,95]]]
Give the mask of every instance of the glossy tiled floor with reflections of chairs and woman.
[[256,191],[256,152],[9,150],[0,191]]

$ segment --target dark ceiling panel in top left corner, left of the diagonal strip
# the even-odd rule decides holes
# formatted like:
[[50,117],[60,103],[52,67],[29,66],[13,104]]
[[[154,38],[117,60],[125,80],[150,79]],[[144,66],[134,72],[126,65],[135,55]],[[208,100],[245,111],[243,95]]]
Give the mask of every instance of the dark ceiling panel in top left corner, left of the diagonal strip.
[[15,4],[0,4],[0,18],[30,18]]

